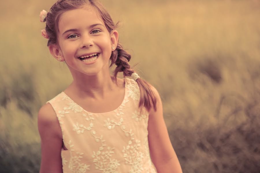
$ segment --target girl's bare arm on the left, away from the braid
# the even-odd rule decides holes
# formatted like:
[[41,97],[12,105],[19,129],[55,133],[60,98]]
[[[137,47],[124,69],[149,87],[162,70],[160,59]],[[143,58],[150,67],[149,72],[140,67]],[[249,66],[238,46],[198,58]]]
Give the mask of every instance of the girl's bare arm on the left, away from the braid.
[[40,173],[62,173],[62,132],[50,104],[45,104],[38,112],[38,130],[42,153]]

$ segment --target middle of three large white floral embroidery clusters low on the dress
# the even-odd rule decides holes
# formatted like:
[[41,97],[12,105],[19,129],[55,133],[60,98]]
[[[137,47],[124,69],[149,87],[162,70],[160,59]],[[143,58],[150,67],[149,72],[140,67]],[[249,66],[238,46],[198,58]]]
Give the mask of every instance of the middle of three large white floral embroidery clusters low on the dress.
[[[92,130],[91,134],[95,137],[96,142],[101,142],[101,146],[98,151],[93,151],[93,162],[95,163],[95,169],[102,170],[103,173],[118,173],[116,169],[120,166],[120,163],[116,159],[112,159],[112,154],[115,148],[111,148],[105,144],[103,136],[96,136],[96,131]],[[106,147],[107,146],[107,147]]]

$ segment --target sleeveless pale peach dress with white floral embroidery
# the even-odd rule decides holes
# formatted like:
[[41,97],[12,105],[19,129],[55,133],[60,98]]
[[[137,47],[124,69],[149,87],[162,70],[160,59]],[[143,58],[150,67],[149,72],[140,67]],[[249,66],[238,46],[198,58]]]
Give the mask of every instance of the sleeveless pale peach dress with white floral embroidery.
[[61,92],[47,101],[55,110],[66,150],[63,173],[156,173],[148,146],[148,112],[138,108],[137,82],[125,78],[125,96],[114,111],[91,113]]

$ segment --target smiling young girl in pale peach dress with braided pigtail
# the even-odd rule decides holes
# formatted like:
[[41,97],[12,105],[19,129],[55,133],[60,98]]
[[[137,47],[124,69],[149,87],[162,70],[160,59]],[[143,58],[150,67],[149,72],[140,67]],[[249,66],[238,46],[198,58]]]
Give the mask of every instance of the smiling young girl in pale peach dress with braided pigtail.
[[131,55],[103,5],[58,0],[40,21],[46,22],[42,36],[49,51],[73,76],[39,110],[40,173],[182,172],[160,96],[131,69]]

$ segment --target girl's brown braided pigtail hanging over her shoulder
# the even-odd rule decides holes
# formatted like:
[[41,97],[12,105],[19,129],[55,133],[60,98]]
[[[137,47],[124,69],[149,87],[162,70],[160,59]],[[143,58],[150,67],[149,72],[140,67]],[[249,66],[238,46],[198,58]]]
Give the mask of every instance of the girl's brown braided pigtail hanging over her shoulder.
[[[117,44],[116,50],[112,51],[111,55],[111,65],[116,64],[116,69],[114,70],[114,77],[116,78],[118,72],[123,72],[123,76],[131,76],[133,73],[135,73],[135,70],[131,68],[129,65],[129,61],[131,59],[131,55],[123,50],[120,43]],[[136,82],[140,89],[140,101],[139,101],[139,107],[142,108],[145,107],[148,111],[151,110],[153,107],[156,111],[156,97],[151,90],[150,84],[146,82],[145,80],[138,78],[136,79]]]

